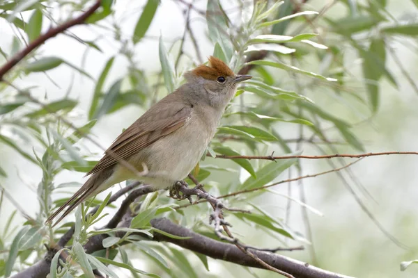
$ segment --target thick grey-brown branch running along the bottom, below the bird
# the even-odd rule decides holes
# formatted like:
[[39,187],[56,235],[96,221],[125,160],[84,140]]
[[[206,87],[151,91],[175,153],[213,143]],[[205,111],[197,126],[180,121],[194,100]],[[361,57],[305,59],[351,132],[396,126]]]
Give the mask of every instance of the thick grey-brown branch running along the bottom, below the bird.
[[[122,226],[125,225],[129,226],[129,223],[125,223]],[[213,240],[212,238],[196,234],[194,231],[190,231],[185,227],[174,224],[166,218],[153,219],[151,220],[151,225],[156,229],[160,229],[175,236],[191,237],[189,239],[180,240],[170,238],[155,232],[154,238],[152,240],[158,242],[173,243],[174,245],[178,245],[187,250],[210,256],[213,259],[229,261],[231,263],[249,266],[252,268],[263,268],[260,263],[247,256],[247,254],[242,253],[235,245],[230,243],[222,243],[220,241]],[[84,249],[87,253],[103,250],[104,247],[102,245],[102,240],[104,238],[106,238],[106,236],[102,234],[93,236],[90,240],[88,240],[88,243],[84,245]],[[265,261],[269,265],[272,265],[274,268],[283,270],[284,272],[293,275],[295,278],[353,278],[316,268],[315,266],[309,265],[308,263],[297,261],[295,259],[291,259],[279,254],[274,254],[272,252],[263,252],[257,250],[251,250],[251,252],[258,256],[259,259]],[[49,268],[50,261],[44,259],[13,276],[13,278],[44,278],[49,273]]]

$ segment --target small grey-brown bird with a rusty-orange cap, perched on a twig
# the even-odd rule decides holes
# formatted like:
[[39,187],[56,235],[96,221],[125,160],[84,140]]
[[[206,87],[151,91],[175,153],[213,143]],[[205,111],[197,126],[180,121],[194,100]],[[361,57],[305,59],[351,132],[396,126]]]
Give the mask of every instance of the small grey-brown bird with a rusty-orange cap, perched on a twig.
[[[88,172],[91,177],[82,188],[46,222],[67,208],[56,225],[84,200],[127,179],[140,179],[158,189],[185,179],[215,135],[237,84],[252,77],[234,74],[212,56],[209,64],[186,72],[187,83],[123,131]],[[138,173],[144,174],[139,177]]]

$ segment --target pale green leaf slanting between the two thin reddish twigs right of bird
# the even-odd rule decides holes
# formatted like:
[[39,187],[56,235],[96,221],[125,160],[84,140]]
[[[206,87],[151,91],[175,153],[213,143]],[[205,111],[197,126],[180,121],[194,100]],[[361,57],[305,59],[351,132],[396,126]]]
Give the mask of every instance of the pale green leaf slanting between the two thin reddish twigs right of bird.
[[297,161],[296,158],[281,159],[279,161],[272,161],[265,164],[260,170],[256,172],[257,178],[249,177],[240,189],[252,189],[265,186],[267,183],[277,178],[281,172],[291,167]]

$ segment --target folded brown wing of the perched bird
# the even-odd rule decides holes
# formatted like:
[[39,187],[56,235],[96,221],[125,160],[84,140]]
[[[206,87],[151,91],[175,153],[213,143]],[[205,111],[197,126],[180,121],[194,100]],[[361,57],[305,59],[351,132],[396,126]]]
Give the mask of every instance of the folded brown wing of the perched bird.
[[[164,102],[167,104],[167,101]],[[99,172],[118,161],[126,160],[126,158],[137,154],[144,147],[176,131],[189,120],[192,113],[192,108],[185,104],[171,103],[165,106],[164,111],[162,111],[161,105],[158,106],[160,107],[154,107],[152,110],[144,113],[136,122],[123,131],[109,149],[104,152],[104,156],[98,164],[87,175]]]

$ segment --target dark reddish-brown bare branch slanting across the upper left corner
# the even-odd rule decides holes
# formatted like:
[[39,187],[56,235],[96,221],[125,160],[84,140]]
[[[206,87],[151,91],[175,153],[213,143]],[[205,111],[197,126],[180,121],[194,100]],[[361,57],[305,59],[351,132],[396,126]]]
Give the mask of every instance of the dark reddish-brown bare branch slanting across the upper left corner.
[[19,53],[15,54],[6,64],[4,64],[2,67],[0,67],[0,81],[3,81],[3,76],[7,72],[9,72],[17,63],[19,63],[24,57],[26,57],[28,54],[31,53],[36,47],[39,47],[40,44],[43,44],[50,38],[55,37],[59,33],[62,33],[63,31],[67,30],[68,28],[83,24],[86,19],[92,15],[95,10],[97,10],[100,7],[100,0],[95,1],[94,5],[91,6],[91,8],[88,8],[86,12],[82,13],[82,15],[79,15],[79,17],[75,17],[74,19],[70,19],[68,22],[65,22],[59,26],[56,26],[55,28],[49,29],[47,33],[40,35],[36,40],[33,40],[27,47],[22,49]]

